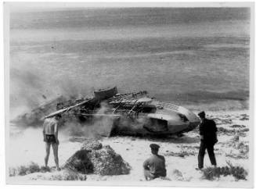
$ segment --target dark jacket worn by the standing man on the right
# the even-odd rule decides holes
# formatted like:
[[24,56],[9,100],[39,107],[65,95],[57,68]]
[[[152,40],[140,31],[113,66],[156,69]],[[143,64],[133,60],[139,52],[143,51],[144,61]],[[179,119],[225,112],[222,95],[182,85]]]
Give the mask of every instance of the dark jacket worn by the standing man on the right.
[[199,126],[200,135],[204,136],[203,141],[208,144],[215,144],[217,142],[217,127],[212,119],[204,119]]

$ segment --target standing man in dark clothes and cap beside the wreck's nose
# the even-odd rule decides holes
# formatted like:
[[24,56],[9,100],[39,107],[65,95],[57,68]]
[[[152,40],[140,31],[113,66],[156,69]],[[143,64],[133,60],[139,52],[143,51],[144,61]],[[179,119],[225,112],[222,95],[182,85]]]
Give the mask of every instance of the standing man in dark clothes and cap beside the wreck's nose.
[[198,168],[204,168],[204,154],[205,149],[207,149],[211,165],[217,166],[216,159],[215,159],[215,152],[214,146],[217,143],[217,127],[216,123],[212,119],[205,118],[205,112],[198,113],[198,116],[201,119],[201,123],[199,126],[200,130],[200,150],[198,154]]

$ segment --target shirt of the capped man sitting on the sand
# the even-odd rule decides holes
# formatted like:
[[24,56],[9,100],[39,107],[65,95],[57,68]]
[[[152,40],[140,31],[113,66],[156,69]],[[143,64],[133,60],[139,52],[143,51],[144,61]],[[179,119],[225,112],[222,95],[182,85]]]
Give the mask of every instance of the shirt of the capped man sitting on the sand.
[[165,177],[165,159],[162,155],[152,155],[143,163],[144,169],[149,169],[154,177]]

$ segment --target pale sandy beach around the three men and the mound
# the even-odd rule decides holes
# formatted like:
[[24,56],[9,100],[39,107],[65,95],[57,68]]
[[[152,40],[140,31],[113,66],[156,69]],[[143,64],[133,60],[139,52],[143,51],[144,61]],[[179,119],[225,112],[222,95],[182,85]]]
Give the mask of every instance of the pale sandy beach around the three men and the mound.
[[[242,166],[249,171],[249,116],[247,111],[239,112],[208,112],[208,117],[215,119],[218,127],[218,143],[215,144],[215,155],[218,166],[226,166],[231,162],[234,166]],[[234,138],[235,136],[239,136]],[[27,137],[31,138],[27,140]],[[42,141],[41,129],[28,128],[13,134],[10,137],[10,166],[24,166],[26,163],[35,162],[39,166],[44,165],[45,148]],[[237,139],[238,138],[238,139]],[[59,165],[70,158],[74,152],[81,148],[83,137],[71,137],[60,131],[59,135]],[[168,138],[142,138],[142,137],[102,137],[97,139],[103,145],[109,144],[117,154],[120,154],[125,162],[132,166],[128,175],[100,176],[88,174],[86,182],[107,181],[114,184],[124,182],[147,182],[143,177],[142,163],[150,157],[151,143],[160,145],[160,155],[166,159],[167,178],[172,181],[185,182],[209,182],[204,179],[203,173],[197,171],[197,155],[200,139],[198,127],[196,130],[184,134],[182,137],[172,136]],[[22,144],[22,145],[21,145]],[[15,155],[14,155],[15,154]],[[49,166],[55,166],[52,152],[49,158]],[[207,153],[204,158],[204,167],[211,166]],[[26,176],[9,177],[11,182],[24,180],[44,180],[49,173],[31,173]],[[163,180],[154,180],[163,182]],[[220,177],[211,181],[211,184],[227,182],[247,182],[236,180],[233,176]]]

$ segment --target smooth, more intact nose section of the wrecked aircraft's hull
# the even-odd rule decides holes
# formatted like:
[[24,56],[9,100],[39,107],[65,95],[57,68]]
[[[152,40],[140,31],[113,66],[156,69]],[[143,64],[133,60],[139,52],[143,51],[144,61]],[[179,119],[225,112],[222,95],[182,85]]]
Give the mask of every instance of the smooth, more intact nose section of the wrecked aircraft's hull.
[[111,135],[172,135],[195,129],[200,119],[188,109],[177,107],[163,107],[154,113],[118,117],[114,120]]

